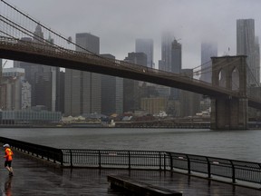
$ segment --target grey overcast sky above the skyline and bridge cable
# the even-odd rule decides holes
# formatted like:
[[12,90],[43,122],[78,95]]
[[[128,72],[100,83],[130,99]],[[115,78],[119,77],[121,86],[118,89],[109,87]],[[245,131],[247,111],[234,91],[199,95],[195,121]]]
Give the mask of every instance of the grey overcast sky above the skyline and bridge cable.
[[[100,37],[101,54],[123,60],[135,39],[154,40],[154,63],[161,58],[161,34],[182,44],[182,68],[200,64],[202,40],[218,43],[218,55],[236,54],[237,19],[255,19],[261,36],[261,0],[5,0],[64,36]],[[55,42],[55,40],[54,40]]]

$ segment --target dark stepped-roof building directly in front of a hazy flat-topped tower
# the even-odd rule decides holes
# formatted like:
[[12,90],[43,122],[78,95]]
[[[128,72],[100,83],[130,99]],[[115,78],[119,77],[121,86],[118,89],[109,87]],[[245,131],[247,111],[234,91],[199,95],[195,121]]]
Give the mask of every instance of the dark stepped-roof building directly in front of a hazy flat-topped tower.
[[[132,64],[147,65],[144,53],[129,53],[124,61]],[[123,112],[134,112],[140,109],[139,81],[123,79]]]

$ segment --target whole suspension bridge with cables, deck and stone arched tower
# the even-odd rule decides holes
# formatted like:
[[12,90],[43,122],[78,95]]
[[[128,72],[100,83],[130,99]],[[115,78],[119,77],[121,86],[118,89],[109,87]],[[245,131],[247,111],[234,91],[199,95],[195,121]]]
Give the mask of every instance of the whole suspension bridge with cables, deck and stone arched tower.
[[[93,54],[3,0],[1,7],[5,12],[0,14],[0,58],[103,73],[208,95],[211,98],[210,124],[214,130],[247,129],[248,107],[261,109],[260,94],[256,93],[258,88],[247,83],[247,72],[250,70],[245,55],[212,57],[212,83],[205,83],[193,76]],[[37,25],[52,36],[54,42],[34,34]],[[24,37],[32,37],[36,41],[26,41]],[[237,82],[234,73],[237,73]]]

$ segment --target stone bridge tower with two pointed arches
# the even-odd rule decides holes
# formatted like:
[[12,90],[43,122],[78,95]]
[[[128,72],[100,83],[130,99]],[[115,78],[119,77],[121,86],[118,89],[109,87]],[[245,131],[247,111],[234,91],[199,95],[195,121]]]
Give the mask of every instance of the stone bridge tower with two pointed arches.
[[247,104],[247,56],[211,57],[212,85],[236,91],[232,96],[211,98],[210,128],[213,130],[246,130]]

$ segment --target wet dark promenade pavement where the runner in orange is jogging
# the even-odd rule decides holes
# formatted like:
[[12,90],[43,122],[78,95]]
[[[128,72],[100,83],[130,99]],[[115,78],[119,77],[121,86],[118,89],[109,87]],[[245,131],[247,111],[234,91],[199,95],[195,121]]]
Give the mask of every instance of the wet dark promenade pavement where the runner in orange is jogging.
[[[181,191],[184,196],[257,196],[261,191],[233,186],[218,181],[208,181],[198,177],[169,171],[128,171],[116,169],[61,169],[44,161],[39,161],[21,152],[14,152],[14,176],[9,177],[3,166],[0,168],[0,195],[41,196],[41,195],[124,195],[110,189],[108,175],[128,175],[146,183],[173,191]],[[4,155],[4,151],[0,152]],[[3,157],[3,156],[2,156]],[[0,162],[1,165],[1,162]]]

